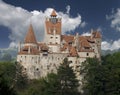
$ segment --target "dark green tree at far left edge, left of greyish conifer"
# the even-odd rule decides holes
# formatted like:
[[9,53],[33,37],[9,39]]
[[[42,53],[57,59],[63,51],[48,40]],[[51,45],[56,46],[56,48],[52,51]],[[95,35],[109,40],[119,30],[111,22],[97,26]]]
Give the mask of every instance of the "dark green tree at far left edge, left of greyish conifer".
[[15,95],[12,87],[15,75],[15,66],[13,63],[0,63],[0,95]]

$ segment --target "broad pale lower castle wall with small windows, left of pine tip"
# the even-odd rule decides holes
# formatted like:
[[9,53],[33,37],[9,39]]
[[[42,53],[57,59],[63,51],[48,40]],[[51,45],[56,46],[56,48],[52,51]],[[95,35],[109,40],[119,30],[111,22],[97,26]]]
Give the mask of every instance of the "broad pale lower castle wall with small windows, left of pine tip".
[[18,55],[17,61],[24,67],[30,79],[46,76],[48,73],[56,73],[57,68],[67,57],[67,53],[49,53],[44,55]]

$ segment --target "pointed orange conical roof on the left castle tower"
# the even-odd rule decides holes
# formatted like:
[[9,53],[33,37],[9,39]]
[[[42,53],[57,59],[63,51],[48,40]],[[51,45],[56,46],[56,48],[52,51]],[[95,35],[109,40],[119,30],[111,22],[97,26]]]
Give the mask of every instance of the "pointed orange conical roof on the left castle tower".
[[25,43],[37,43],[32,24],[30,24],[30,27],[29,27],[29,30],[26,34],[24,42]]

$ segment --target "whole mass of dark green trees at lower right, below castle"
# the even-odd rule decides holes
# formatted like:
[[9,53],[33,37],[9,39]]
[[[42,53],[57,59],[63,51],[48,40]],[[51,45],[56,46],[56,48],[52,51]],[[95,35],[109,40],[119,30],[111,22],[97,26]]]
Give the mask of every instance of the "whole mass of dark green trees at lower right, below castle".
[[[120,94],[120,53],[106,55],[100,63],[97,59],[84,62],[85,95]],[[83,73],[82,73],[83,74]]]

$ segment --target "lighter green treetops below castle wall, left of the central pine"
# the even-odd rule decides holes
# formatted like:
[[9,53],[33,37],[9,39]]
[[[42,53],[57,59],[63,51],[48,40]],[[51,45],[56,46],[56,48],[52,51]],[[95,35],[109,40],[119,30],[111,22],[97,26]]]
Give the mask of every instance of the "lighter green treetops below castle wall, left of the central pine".
[[32,80],[27,95],[59,95],[58,77],[54,73],[48,74],[44,78]]

